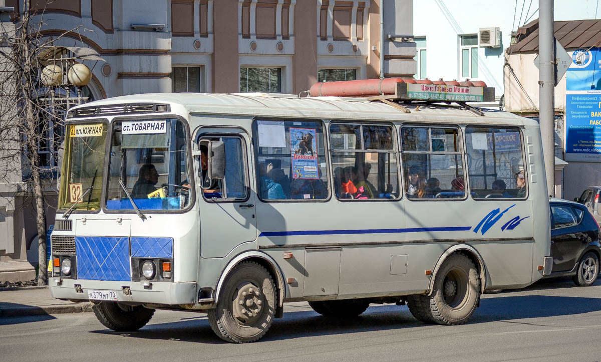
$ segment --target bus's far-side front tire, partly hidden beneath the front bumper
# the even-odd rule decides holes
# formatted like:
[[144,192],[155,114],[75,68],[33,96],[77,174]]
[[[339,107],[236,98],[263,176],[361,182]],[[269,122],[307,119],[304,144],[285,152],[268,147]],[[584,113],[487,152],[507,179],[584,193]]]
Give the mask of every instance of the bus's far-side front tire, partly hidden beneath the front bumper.
[[100,302],[93,305],[92,310],[100,323],[117,332],[137,331],[144,327],[154,314],[154,309],[142,305],[132,307],[118,302]]

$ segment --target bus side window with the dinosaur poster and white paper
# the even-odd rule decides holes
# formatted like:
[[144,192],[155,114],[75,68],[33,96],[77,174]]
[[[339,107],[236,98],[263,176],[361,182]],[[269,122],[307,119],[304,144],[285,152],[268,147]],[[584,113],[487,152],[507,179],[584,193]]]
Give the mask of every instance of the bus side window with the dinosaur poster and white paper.
[[257,193],[261,200],[325,200],[329,196],[322,124],[256,121]]

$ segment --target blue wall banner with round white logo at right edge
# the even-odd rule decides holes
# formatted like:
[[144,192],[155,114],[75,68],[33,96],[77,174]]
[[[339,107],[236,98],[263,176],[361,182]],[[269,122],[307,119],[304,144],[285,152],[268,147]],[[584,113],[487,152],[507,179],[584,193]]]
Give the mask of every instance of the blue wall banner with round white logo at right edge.
[[601,162],[601,49],[577,49],[566,73],[566,161]]

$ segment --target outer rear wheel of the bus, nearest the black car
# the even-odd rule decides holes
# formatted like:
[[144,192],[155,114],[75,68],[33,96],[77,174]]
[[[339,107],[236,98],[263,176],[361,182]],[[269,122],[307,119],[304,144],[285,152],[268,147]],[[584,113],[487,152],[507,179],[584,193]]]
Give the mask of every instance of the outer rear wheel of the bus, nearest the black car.
[[436,272],[430,297],[432,321],[442,325],[464,324],[480,301],[480,278],[472,261],[455,253]]

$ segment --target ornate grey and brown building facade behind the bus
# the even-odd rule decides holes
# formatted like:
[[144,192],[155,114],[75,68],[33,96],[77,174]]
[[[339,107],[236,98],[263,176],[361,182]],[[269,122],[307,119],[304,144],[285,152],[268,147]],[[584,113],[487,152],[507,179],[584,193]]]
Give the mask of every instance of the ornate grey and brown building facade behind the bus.
[[[23,1],[5,5],[20,9]],[[380,57],[383,75],[411,78],[412,6],[412,0],[32,0],[55,45],[92,48],[105,60],[83,62],[93,73],[90,99],[171,91],[302,96],[317,81],[378,78]],[[18,18],[11,14],[13,22]],[[16,221],[2,219],[2,212]],[[52,208],[49,214],[53,224]],[[0,205],[0,282],[31,279],[31,266],[22,262],[34,244],[32,225],[28,213]],[[28,271],[9,272],[9,260]]]

